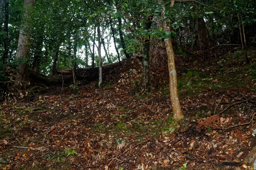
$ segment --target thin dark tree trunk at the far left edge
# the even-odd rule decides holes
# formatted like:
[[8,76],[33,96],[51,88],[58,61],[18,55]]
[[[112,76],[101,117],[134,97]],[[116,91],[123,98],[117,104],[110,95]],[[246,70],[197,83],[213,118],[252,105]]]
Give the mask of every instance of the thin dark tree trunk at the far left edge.
[[9,31],[8,31],[8,23],[9,23],[9,0],[4,0],[4,9],[5,9],[5,17],[4,17],[4,50],[3,50],[3,64],[6,64],[8,61],[8,52],[9,52]]

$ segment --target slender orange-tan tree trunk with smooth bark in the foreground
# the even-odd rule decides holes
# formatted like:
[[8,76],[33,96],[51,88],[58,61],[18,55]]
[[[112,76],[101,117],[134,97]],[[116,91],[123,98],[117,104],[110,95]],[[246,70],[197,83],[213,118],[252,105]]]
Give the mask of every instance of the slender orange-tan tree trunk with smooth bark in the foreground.
[[[158,0],[158,3],[161,3],[161,17],[163,22],[163,29],[166,32],[170,32],[170,26],[166,24],[164,20],[165,16],[165,6],[162,4],[163,0]],[[175,0],[172,0],[171,7],[174,6]],[[169,70],[169,87],[170,87],[170,96],[172,101],[172,112],[174,113],[174,119],[183,118],[183,113],[180,107],[180,101],[177,91],[177,73],[175,68],[175,54],[172,48],[172,41],[169,38],[164,39],[166,45],[166,53],[168,57],[168,70]]]

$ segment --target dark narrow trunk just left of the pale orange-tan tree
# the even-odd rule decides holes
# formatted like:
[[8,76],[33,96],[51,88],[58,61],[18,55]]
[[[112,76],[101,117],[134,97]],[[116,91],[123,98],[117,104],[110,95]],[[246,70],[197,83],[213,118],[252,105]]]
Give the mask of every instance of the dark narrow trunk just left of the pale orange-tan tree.
[[[148,17],[148,20],[146,21],[146,26],[145,29],[149,30],[152,25],[152,17]],[[150,46],[150,37],[145,39],[144,41],[144,49],[143,49],[143,77],[142,77],[142,85],[141,85],[141,93],[144,91],[149,90],[149,74],[148,74],[148,69],[149,69],[149,46]]]

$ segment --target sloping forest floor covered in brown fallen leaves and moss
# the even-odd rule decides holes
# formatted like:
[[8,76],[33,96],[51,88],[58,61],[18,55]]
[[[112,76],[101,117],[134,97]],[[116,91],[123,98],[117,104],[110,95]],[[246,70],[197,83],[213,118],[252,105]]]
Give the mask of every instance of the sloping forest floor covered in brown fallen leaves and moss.
[[[202,57],[204,56],[204,58]],[[183,120],[172,119],[168,85],[137,94],[137,66],[97,81],[50,87],[0,103],[0,169],[242,170],[256,146],[256,50],[183,57]],[[133,67],[133,68],[131,68]],[[137,78],[137,79],[136,79]]]

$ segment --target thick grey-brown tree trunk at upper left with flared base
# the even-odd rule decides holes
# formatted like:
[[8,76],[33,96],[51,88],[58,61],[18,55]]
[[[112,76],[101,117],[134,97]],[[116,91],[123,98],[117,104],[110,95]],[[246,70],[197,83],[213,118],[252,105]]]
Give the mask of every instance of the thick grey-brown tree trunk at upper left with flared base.
[[20,29],[20,35],[18,40],[18,47],[16,52],[16,59],[20,61],[25,61],[25,63],[20,63],[17,67],[17,75],[16,81],[14,84],[14,88],[17,90],[21,89],[23,85],[23,80],[26,81],[26,68],[27,68],[27,61],[29,59],[29,51],[30,51],[30,33],[28,32],[28,28],[30,27],[29,24],[26,22],[26,19],[29,19],[28,9],[35,6],[35,0],[25,0],[24,1],[24,28]]

